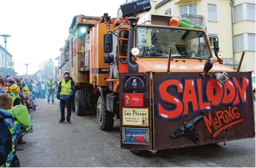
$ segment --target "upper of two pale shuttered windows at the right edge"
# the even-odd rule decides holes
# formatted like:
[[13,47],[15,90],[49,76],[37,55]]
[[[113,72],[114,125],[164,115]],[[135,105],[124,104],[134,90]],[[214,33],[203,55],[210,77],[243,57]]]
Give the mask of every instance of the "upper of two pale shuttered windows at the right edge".
[[234,6],[234,23],[243,20],[255,21],[255,4],[243,3]]

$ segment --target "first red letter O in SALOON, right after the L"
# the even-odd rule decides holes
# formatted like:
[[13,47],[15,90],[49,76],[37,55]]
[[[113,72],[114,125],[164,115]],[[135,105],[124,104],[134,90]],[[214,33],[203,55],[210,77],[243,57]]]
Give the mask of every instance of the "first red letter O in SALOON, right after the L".
[[[215,93],[216,91],[216,93]],[[210,79],[207,84],[207,97],[214,106],[219,105],[222,101],[223,96],[223,85],[219,83],[216,79]]]

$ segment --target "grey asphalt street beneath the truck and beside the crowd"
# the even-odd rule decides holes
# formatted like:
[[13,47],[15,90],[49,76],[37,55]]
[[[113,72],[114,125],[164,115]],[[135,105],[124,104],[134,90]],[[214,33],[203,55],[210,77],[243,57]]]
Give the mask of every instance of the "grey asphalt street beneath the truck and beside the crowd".
[[98,128],[96,116],[76,116],[59,123],[60,105],[38,99],[31,112],[34,133],[17,155],[21,167],[255,167],[255,138],[158,151],[140,157],[120,149],[119,120],[112,132]]

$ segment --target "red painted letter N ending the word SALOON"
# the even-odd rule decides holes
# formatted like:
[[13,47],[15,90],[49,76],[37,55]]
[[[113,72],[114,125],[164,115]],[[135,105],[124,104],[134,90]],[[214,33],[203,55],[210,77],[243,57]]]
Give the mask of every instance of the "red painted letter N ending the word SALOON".
[[241,101],[246,103],[246,88],[249,86],[249,79],[246,77],[243,77],[243,84],[241,84],[236,77],[233,77],[233,81],[237,87],[237,96],[236,96],[236,99],[234,99],[233,104],[236,105],[240,103],[238,93],[240,95]]

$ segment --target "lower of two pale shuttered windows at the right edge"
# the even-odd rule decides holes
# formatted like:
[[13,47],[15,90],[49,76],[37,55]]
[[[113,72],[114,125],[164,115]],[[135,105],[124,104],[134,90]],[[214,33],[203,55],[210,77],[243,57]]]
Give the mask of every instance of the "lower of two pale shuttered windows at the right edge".
[[234,35],[234,52],[243,52],[244,50],[255,51],[255,34]]

